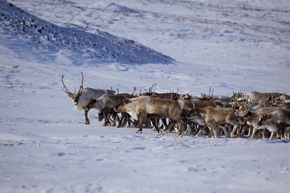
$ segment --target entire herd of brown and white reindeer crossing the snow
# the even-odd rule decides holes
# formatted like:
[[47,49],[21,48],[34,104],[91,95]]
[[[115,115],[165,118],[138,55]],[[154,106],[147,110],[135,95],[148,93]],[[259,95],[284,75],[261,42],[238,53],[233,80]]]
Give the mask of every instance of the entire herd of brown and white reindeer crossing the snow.
[[[213,96],[211,88],[208,96],[205,94],[192,96],[179,94],[177,91],[156,93],[156,85],[141,94],[119,93],[109,89],[83,88],[76,92],[66,88],[62,75],[61,82],[65,92],[72,98],[76,110],[84,110],[85,124],[89,124],[88,111],[96,109],[98,121],[104,119],[103,126],[139,128],[143,126],[156,130],[158,135],[175,130],[177,136],[201,133],[218,138],[219,135],[240,137],[245,134],[248,139],[282,139],[290,140],[290,96],[285,93],[234,93],[231,97]],[[154,90],[153,87],[155,85]],[[121,119],[118,113],[121,113]],[[112,120],[113,119],[113,120]],[[168,121],[167,121],[168,120]],[[162,123],[159,127],[159,123]],[[167,124],[168,123],[168,124]],[[163,133],[160,129],[163,129]],[[257,133],[257,130],[258,133]],[[185,132],[184,132],[185,131]]]

